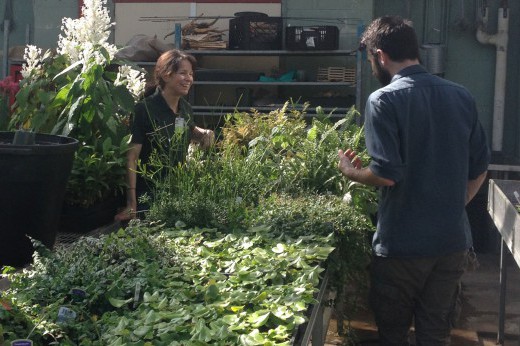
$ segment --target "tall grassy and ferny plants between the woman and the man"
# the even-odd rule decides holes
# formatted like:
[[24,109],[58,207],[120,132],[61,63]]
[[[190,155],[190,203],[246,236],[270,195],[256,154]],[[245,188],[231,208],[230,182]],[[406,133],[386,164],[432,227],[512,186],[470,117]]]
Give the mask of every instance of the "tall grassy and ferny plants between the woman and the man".
[[[319,113],[310,125],[304,115],[287,105],[269,114],[230,114],[215,150],[195,150],[175,167],[156,156],[153,168],[147,168],[157,185],[148,217],[168,225],[182,220],[235,229],[243,227],[244,217],[260,199],[273,193],[332,194],[339,199],[349,193],[360,213],[373,213],[374,189],[349,182],[337,168],[339,148],[352,148],[368,160],[358,113],[352,109],[336,122]],[[165,178],[154,175],[159,170],[166,171]]]

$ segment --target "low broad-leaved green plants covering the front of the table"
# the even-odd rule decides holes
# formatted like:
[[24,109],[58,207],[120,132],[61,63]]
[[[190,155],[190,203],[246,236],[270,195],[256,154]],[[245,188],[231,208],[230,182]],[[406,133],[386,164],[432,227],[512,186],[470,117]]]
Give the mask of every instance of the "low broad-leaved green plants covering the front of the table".
[[[3,299],[20,314],[0,306],[10,318],[3,336],[38,345],[289,345],[315,302],[331,240],[139,224],[83,238],[9,275]],[[73,321],[57,321],[62,306]]]

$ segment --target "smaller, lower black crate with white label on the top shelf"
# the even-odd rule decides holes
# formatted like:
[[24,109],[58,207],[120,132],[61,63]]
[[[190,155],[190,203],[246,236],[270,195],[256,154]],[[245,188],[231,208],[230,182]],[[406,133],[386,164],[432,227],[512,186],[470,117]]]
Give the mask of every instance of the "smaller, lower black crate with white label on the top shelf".
[[339,29],[326,26],[288,26],[286,48],[289,50],[335,50],[339,47]]

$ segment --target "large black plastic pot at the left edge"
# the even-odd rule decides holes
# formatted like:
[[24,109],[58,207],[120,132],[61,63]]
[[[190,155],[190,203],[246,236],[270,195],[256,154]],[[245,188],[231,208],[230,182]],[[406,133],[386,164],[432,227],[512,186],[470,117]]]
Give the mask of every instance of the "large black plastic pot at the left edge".
[[33,145],[14,145],[0,132],[0,267],[31,262],[30,238],[54,246],[67,179],[78,141],[36,134]]

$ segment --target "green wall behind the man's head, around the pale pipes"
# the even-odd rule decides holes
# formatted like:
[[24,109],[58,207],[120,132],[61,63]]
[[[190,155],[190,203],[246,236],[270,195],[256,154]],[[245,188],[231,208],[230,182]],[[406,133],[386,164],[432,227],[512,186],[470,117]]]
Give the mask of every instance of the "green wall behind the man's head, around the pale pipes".
[[[461,1],[464,1],[462,4]],[[489,0],[487,32],[497,31],[499,0]],[[425,31],[431,29],[432,4],[440,6],[441,0],[374,0],[374,17],[398,14],[410,18],[422,40]],[[448,1],[448,17],[445,22],[446,59],[444,77],[466,86],[475,96],[480,119],[491,143],[494,107],[494,79],[496,47],[483,45],[476,39],[480,8],[476,0]],[[425,8],[430,6],[428,15]],[[464,6],[462,6],[464,5]],[[509,44],[507,57],[506,99],[504,114],[503,154],[518,158],[520,153],[520,1],[509,1]],[[464,13],[462,8],[464,7]],[[377,83],[372,80],[372,86]]]

